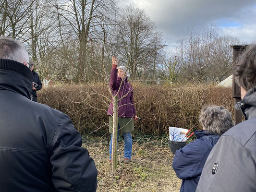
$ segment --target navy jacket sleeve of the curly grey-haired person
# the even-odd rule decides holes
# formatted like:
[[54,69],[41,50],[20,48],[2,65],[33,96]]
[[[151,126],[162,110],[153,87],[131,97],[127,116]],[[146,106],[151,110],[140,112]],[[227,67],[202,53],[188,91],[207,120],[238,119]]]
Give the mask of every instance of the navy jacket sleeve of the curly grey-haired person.
[[200,175],[200,165],[204,163],[202,161],[208,150],[205,142],[200,139],[196,139],[177,150],[172,162],[172,168],[177,177],[185,180]]

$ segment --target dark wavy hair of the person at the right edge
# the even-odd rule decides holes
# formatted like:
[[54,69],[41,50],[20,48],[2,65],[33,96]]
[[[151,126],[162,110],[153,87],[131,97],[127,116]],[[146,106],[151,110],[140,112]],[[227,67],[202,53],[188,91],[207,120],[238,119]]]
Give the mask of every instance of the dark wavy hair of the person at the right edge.
[[246,48],[234,67],[237,84],[246,91],[256,86],[256,44]]

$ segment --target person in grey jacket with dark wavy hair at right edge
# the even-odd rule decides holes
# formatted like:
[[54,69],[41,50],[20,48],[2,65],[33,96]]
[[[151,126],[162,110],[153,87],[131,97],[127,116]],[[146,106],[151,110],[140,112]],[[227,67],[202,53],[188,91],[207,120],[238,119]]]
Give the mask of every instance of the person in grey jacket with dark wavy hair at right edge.
[[256,191],[256,44],[235,63],[234,78],[242,99],[235,108],[245,120],[221,135],[207,158],[197,192]]

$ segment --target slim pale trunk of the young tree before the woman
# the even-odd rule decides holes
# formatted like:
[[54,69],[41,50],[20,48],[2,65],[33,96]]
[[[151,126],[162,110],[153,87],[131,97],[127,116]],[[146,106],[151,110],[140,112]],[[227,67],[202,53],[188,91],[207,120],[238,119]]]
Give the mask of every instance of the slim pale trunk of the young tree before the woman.
[[117,153],[117,127],[118,127],[118,96],[114,96],[113,99],[113,131],[112,131],[112,172],[115,172],[116,169],[116,153]]

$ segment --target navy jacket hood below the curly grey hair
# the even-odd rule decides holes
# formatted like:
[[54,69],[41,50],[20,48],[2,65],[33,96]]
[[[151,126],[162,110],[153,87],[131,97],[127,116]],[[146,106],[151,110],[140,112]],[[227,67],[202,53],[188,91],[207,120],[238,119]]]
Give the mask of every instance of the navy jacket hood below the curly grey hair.
[[213,148],[213,146],[218,142],[219,137],[220,137],[220,135],[211,134],[205,130],[195,131],[194,133],[195,133],[196,138],[203,140],[207,144],[209,149]]

